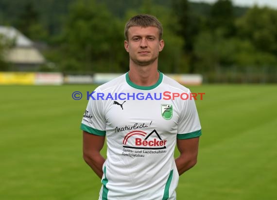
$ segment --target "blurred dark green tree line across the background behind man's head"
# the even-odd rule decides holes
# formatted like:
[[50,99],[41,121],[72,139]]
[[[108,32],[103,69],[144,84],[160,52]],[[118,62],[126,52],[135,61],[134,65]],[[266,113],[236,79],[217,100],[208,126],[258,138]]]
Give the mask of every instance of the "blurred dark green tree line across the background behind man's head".
[[[8,2],[20,2],[22,9],[17,15],[5,14],[4,8],[9,15],[18,9],[12,10]],[[0,2],[2,24],[14,25],[32,40],[46,44],[42,52],[55,67],[46,65],[41,70],[125,72],[129,57],[123,48],[124,25],[139,13],[154,15],[163,24],[165,48],[160,53],[159,69],[164,73],[206,73],[232,66],[238,70],[277,67],[275,9],[235,7],[231,0],[217,0],[212,5],[188,0],[43,2],[45,8],[35,0]],[[0,57],[0,66],[2,63]]]

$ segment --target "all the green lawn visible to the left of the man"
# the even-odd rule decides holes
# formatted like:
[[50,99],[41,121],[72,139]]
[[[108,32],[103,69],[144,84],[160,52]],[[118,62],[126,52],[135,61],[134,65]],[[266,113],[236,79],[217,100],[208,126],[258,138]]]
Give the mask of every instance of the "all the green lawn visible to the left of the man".
[[[79,127],[87,102],[72,100],[73,89],[55,88],[59,89],[53,93],[52,87],[23,86],[22,91],[32,90],[32,95],[17,93],[21,101],[10,100],[19,110],[1,108],[5,112],[0,140],[1,179],[6,183],[0,189],[6,194],[1,199],[60,200],[76,191],[76,183],[96,179],[82,159]],[[15,92],[9,90],[8,94]],[[100,184],[90,183],[77,193],[91,186],[100,189]]]

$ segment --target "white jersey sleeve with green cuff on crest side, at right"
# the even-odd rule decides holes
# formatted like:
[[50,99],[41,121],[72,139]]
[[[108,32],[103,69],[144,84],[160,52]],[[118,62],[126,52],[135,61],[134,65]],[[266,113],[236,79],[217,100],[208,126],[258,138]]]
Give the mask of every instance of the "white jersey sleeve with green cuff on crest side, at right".
[[182,106],[178,121],[177,139],[199,137],[202,131],[194,99],[184,100]]

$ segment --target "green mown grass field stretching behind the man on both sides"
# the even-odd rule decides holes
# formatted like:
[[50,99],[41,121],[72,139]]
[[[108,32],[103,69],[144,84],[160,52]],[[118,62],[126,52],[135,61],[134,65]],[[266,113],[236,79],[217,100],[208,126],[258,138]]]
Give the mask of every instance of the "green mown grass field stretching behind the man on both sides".
[[[198,164],[177,200],[277,200],[277,85],[203,85]],[[0,86],[0,200],[98,200],[79,129],[91,85]]]

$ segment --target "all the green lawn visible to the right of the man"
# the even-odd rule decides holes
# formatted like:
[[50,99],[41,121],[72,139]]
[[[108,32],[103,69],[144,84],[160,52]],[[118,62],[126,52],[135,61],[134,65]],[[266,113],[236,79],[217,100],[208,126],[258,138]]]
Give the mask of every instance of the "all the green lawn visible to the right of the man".
[[[229,91],[226,87],[226,91]],[[188,199],[276,199],[277,87],[237,87],[230,103],[197,101],[202,119],[198,165],[180,177],[177,189]],[[214,89],[215,87],[211,88]],[[227,93],[227,92],[226,92]],[[224,94],[223,94],[224,95]],[[230,97],[230,96],[229,96]],[[241,100],[242,99],[242,100]],[[248,101],[247,101],[248,99]],[[207,103],[207,105],[206,105]],[[181,200],[181,199],[180,199]]]

